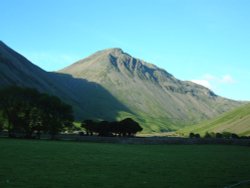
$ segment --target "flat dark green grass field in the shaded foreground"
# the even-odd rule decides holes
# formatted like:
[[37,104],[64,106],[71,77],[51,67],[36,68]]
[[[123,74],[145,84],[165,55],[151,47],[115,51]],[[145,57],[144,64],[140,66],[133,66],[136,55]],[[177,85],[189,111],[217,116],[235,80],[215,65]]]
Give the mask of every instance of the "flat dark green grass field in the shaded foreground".
[[242,146],[0,139],[0,151],[1,188],[214,188],[250,180],[250,148]]

